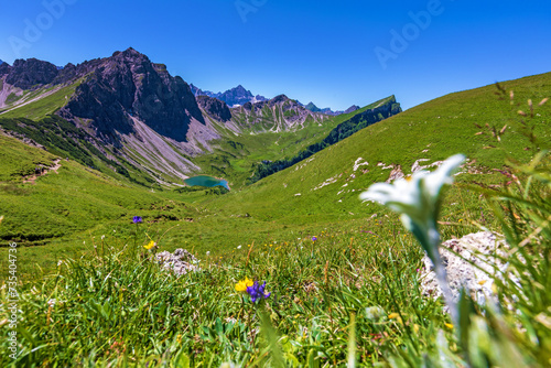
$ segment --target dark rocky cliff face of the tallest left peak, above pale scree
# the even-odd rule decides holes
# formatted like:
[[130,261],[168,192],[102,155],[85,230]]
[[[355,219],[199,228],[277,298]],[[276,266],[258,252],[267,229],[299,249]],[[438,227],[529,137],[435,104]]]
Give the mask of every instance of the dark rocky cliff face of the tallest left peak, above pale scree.
[[[133,118],[179,142],[186,141],[192,121],[204,123],[190,86],[133,48],[116,52],[93,69],[60,115],[93,121],[97,134],[110,143],[117,143],[116,132],[134,131]],[[69,66],[64,73],[82,71]]]

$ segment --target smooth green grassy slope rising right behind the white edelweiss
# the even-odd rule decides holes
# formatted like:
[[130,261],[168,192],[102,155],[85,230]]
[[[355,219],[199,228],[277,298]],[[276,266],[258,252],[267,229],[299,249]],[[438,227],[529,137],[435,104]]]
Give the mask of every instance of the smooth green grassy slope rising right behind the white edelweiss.
[[[533,145],[522,134],[527,129],[518,122],[517,110],[529,111],[528,99],[537,105],[551,96],[551,73],[506,82],[503,87],[507,93],[514,90],[512,106],[508,95],[506,99],[496,95],[494,85],[451,94],[370,126],[209,206],[285,223],[303,216],[368,216],[379,207],[361,204],[358,194],[389,177],[391,169],[383,170],[379,163],[400,165],[409,174],[417,160],[428,160],[421,162],[426,165],[464,153],[474,161],[473,167],[489,174],[491,169],[501,167],[506,158],[526,161]],[[542,142],[550,141],[550,121],[551,108],[544,105],[530,122]],[[507,126],[499,148],[486,125],[497,131]],[[368,165],[354,171],[356,162]],[[484,176],[460,175],[465,181],[483,181]]]

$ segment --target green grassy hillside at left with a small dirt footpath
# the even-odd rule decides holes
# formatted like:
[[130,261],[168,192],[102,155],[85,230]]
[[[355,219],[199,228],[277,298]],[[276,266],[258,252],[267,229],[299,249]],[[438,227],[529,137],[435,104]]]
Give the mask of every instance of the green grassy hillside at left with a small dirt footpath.
[[[112,234],[118,226],[131,223],[133,216],[142,216],[149,224],[145,226],[173,226],[177,219],[197,215],[195,208],[156,191],[117,181],[13,138],[0,136],[0,216],[4,216],[0,246],[6,247],[10,241],[21,247],[33,246],[28,248],[28,255],[22,251],[25,255],[20,263],[22,270],[29,271],[35,262],[48,268],[55,264],[58,255],[76,257],[89,249],[83,247],[83,241],[91,239],[86,230],[105,234],[107,227]],[[24,182],[35,167],[54,166],[56,159],[61,160],[56,171],[45,170],[44,175]],[[35,247],[52,241],[51,246]]]

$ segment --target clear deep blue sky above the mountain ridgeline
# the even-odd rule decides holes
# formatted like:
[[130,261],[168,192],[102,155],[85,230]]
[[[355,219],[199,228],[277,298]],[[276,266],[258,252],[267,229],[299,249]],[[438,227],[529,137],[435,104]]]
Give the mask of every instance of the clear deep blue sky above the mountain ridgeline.
[[56,65],[129,46],[213,91],[238,84],[345,109],[404,108],[551,72],[540,1],[0,0],[0,59]]

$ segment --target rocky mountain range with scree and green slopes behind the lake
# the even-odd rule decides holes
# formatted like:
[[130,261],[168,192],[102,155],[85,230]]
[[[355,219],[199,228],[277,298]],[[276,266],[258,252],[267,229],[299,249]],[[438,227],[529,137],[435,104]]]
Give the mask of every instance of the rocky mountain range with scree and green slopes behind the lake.
[[[244,172],[235,166],[244,160],[251,174],[249,148],[259,141],[273,148],[262,159],[281,160],[355,121],[359,112],[355,127],[401,111],[393,96],[333,117],[285,95],[253,97],[242,86],[209,94],[133,48],[63,68],[17,59],[0,65],[0,127],[105,172],[169,184],[194,173]],[[381,108],[388,113],[379,113]]]

